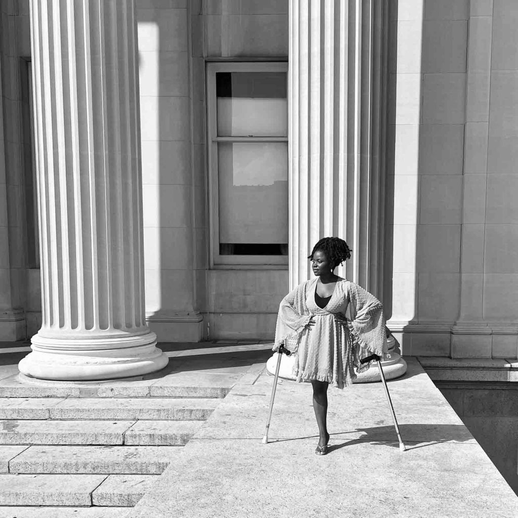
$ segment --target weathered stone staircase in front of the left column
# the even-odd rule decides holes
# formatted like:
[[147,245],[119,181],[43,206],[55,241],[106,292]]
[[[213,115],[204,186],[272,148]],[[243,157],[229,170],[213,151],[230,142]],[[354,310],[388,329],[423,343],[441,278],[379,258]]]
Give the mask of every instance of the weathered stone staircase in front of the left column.
[[124,516],[228,390],[4,383],[0,518]]

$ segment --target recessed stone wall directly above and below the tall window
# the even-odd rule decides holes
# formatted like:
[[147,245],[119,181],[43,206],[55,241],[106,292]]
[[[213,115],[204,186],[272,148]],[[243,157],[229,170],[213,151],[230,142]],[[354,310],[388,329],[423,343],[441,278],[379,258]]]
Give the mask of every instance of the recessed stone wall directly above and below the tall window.
[[[206,59],[287,60],[287,13],[287,0],[205,0],[201,18]],[[287,287],[287,267],[208,270],[208,336],[272,338]]]

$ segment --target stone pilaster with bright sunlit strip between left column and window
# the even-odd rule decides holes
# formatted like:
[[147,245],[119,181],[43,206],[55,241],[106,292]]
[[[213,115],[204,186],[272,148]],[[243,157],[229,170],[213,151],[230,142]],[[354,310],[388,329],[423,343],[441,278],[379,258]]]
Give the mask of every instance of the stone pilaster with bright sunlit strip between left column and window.
[[137,0],[146,315],[162,341],[204,331],[204,62],[199,2]]

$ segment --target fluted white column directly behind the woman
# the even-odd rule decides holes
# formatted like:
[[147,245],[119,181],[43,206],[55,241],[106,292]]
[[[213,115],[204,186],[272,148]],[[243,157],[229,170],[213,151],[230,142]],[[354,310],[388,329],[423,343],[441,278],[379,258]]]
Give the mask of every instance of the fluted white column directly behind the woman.
[[386,0],[290,0],[290,290],[337,236],[353,250],[338,275],[383,297],[386,17]]

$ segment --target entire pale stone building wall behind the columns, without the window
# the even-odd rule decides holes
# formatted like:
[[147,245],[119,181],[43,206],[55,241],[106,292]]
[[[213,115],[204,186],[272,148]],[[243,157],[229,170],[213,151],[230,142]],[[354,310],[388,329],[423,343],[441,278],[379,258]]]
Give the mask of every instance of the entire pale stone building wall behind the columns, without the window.
[[[0,4],[0,338],[20,339],[40,322],[20,127],[30,30],[28,0]],[[161,340],[268,338],[287,269],[209,268],[205,65],[287,60],[288,2],[136,4],[150,326]],[[387,5],[389,325],[405,354],[517,357],[518,7]]]

